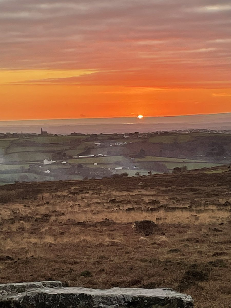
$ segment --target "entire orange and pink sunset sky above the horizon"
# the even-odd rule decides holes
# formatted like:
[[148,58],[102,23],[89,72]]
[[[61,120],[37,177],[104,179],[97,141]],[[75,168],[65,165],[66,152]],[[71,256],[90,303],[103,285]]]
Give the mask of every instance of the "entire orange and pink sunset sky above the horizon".
[[0,0],[0,120],[231,112],[230,0]]

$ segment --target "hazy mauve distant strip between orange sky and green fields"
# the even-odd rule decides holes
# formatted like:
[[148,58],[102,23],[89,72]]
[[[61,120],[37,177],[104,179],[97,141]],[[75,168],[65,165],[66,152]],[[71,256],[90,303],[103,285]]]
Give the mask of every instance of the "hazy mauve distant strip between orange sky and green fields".
[[0,133],[22,132],[40,133],[41,128],[52,134],[70,134],[71,132],[126,133],[155,132],[184,129],[231,130],[231,112],[210,115],[180,115],[165,117],[97,118],[97,119],[57,119],[57,120],[20,120],[0,121]]

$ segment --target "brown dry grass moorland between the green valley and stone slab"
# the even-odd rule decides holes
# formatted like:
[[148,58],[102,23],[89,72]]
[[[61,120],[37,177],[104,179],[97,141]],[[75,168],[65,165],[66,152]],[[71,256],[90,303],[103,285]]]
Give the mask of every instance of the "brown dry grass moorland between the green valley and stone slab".
[[[229,307],[230,180],[188,172],[1,187],[0,283],[171,287],[196,308]],[[139,241],[132,225],[145,219],[156,230]]]

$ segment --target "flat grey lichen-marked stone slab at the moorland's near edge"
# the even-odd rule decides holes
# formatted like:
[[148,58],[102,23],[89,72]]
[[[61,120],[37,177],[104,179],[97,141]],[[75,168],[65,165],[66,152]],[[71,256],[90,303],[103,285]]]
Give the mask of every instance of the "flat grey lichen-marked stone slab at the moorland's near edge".
[[0,285],[1,308],[189,308],[191,296],[169,288],[63,288],[60,281]]

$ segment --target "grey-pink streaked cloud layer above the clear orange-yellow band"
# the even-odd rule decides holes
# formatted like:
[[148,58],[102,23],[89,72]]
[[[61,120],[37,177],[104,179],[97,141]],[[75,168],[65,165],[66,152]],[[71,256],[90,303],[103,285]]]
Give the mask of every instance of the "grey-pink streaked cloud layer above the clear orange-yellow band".
[[97,71],[21,84],[221,87],[230,10],[230,0],[1,0],[0,68]]

